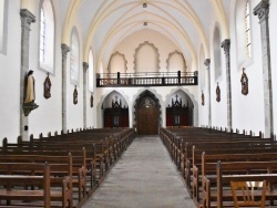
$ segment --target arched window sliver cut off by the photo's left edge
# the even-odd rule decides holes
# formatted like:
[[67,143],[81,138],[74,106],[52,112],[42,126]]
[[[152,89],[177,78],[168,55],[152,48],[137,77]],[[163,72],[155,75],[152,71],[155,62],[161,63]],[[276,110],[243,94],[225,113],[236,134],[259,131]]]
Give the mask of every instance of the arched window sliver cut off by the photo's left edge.
[[7,52],[8,1],[0,0],[0,53]]

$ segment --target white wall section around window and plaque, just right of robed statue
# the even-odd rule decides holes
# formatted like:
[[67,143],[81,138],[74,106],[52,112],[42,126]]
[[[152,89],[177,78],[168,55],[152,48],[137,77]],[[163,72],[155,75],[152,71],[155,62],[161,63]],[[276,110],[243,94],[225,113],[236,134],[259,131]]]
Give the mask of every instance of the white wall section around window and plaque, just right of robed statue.
[[32,11],[35,15],[35,22],[32,23],[32,31],[30,33],[30,70],[34,71],[35,79],[35,103],[39,108],[32,111],[29,114],[29,133],[38,137],[40,133],[43,136],[50,132],[53,134],[55,131],[61,132],[61,18],[59,15],[59,3],[52,1],[54,22],[55,22],[55,58],[54,58],[54,73],[50,74],[51,80],[51,97],[44,98],[43,96],[43,83],[47,77],[47,72],[40,70],[39,65],[39,39],[40,39],[40,3],[35,1],[35,11]]

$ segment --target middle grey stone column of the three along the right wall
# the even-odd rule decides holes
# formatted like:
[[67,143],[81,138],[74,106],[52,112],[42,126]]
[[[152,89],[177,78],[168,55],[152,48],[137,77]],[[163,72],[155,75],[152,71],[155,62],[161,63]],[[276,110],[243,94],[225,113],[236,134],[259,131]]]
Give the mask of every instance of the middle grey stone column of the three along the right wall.
[[225,39],[222,42],[222,48],[225,52],[226,61],[226,91],[227,91],[227,128],[232,131],[232,87],[230,87],[230,60],[229,60],[229,39]]

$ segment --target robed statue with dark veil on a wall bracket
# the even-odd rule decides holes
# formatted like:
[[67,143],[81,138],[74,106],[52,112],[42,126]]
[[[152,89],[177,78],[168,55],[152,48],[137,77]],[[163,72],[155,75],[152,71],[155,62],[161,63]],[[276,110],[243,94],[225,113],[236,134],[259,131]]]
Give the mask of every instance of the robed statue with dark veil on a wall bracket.
[[31,111],[39,107],[34,103],[35,100],[35,85],[34,85],[34,77],[33,77],[33,71],[30,70],[27,74],[25,80],[25,89],[24,89],[24,103],[23,103],[23,111],[24,115],[28,116]]

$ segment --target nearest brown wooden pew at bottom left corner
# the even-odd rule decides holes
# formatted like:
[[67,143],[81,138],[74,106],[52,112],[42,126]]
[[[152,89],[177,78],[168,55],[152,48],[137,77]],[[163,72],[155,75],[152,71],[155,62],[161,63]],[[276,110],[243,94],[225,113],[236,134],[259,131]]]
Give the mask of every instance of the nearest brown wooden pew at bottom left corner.
[[[61,201],[61,207],[73,207],[70,177],[51,176],[51,169],[59,170],[60,166],[48,163],[0,163],[1,200],[6,200],[7,206],[12,205],[12,200],[31,200],[38,206],[41,202],[45,208],[52,206],[52,200],[58,200]],[[3,170],[7,173],[3,174]],[[58,184],[60,184],[60,190],[53,188]],[[35,188],[27,189],[27,186]]]

